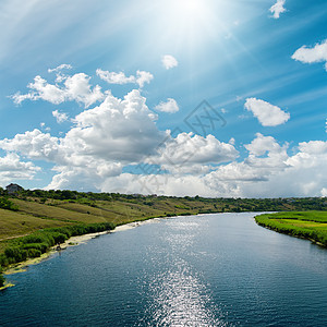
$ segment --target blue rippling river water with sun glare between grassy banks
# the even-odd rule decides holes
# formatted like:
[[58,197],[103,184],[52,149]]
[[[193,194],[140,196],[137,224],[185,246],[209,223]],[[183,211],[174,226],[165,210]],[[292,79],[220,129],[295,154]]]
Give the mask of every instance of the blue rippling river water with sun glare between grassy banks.
[[326,326],[327,250],[254,214],[153,220],[69,247],[0,292],[0,326]]

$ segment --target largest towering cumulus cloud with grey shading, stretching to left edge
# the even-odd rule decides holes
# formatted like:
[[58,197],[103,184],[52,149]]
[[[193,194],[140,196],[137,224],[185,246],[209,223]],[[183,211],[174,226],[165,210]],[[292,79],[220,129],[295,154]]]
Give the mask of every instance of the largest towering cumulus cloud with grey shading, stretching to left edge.
[[136,89],[123,99],[108,94],[100,106],[77,114],[75,125],[62,138],[35,129],[0,141],[0,147],[60,166],[82,167],[90,160],[135,162],[153,155],[166,137],[145,101]]

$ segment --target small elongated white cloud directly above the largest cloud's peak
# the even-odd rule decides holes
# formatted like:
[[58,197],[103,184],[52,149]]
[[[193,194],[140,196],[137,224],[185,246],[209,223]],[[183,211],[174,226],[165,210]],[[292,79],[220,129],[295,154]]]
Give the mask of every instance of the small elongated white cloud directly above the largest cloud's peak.
[[154,78],[154,75],[145,71],[136,71],[136,75],[126,76],[123,72],[109,72],[97,69],[97,75],[109,84],[138,84],[141,88]]

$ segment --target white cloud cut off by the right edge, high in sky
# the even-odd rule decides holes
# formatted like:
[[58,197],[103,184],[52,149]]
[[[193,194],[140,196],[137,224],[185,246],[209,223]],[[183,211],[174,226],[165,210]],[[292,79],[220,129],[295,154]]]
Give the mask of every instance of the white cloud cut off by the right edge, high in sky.
[[314,48],[302,46],[294,52],[292,59],[303,63],[325,62],[327,71],[327,39],[320,44],[316,44]]

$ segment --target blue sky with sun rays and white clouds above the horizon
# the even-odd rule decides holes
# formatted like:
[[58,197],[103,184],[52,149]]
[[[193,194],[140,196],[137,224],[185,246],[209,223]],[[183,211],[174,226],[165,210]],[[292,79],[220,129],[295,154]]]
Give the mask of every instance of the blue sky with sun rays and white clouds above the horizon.
[[2,0],[0,186],[327,196],[325,0]]

